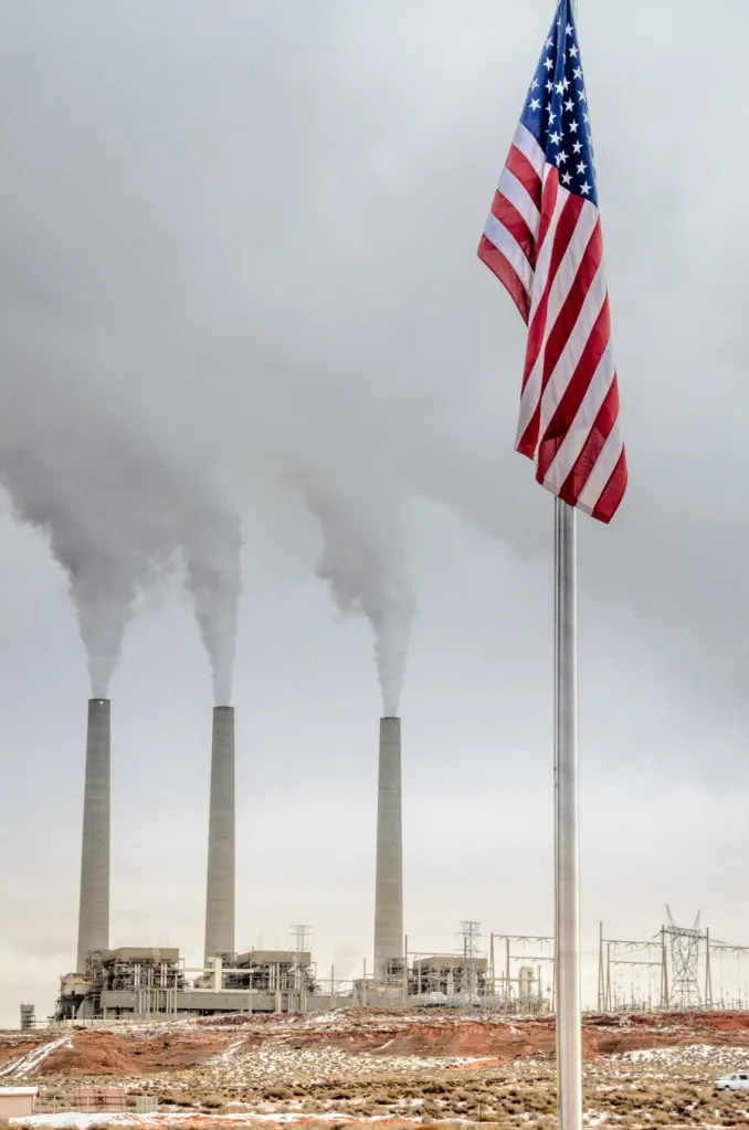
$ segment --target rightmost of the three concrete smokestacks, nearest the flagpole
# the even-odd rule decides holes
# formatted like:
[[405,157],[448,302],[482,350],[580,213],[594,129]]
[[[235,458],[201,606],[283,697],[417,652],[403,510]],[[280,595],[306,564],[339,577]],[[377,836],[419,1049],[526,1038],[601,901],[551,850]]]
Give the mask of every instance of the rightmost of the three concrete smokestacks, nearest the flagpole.
[[401,720],[380,720],[375,975],[403,959],[403,834],[401,824]]

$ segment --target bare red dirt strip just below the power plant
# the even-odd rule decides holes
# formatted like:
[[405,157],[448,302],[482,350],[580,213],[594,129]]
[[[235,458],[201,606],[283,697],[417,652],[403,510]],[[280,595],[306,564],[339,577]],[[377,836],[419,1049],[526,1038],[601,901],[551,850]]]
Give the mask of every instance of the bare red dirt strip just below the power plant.
[[[16,1038],[14,1038],[14,1036]],[[21,1051],[18,1034],[0,1033],[0,1066]],[[36,1043],[59,1040],[60,1033],[36,1036]],[[242,1041],[243,1053],[263,1045],[278,1050],[338,1049],[349,1055],[369,1053],[391,1058],[481,1058],[498,1063],[535,1055],[554,1055],[554,1018],[474,1020],[451,1014],[387,1014],[357,1009],[334,1016],[272,1016],[226,1022],[173,1022],[143,1032],[137,1026],[77,1028],[70,1041],[44,1058],[33,1072],[137,1078],[143,1072],[194,1068]],[[7,1042],[6,1042],[7,1041]],[[680,1014],[589,1016],[583,1029],[585,1059],[688,1044],[747,1048],[749,1014]],[[27,1051],[28,1048],[24,1048]]]

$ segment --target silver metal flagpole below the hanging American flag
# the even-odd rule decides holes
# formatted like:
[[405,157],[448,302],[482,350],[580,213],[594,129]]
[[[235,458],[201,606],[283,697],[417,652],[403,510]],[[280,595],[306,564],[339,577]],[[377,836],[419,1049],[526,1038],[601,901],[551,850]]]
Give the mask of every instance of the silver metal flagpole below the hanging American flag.
[[577,827],[576,512],[555,499],[555,892],[557,1078],[560,1130],[583,1122]]

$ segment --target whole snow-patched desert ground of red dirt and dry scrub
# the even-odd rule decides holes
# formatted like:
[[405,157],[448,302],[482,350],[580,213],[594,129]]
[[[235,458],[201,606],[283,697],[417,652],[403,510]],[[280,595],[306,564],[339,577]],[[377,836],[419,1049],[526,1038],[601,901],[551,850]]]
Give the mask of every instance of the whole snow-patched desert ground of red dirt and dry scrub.
[[[40,1088],[29,1127],[556,1125],[554,1020],[357,1009],[0,1033],[0,1086]],[[746,1127],[749,1012],[586,1016],[585,1121]],[[124,1093],[120,1113],[76,1113]],[[156,1113],[138,1113],[142,1099]],[[140,1101],[140,1102],[139,1102]],[[154,1104],[151,1104],[154,1105]]]

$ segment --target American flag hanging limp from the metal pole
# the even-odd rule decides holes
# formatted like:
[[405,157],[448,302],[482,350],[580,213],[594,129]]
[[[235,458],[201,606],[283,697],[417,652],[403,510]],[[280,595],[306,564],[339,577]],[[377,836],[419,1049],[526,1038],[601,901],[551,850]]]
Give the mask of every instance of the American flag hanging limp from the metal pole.
[[560,0],[479,258],[528,323],[516,450],[610,522],[627,488],[595,165],[577,31]]

